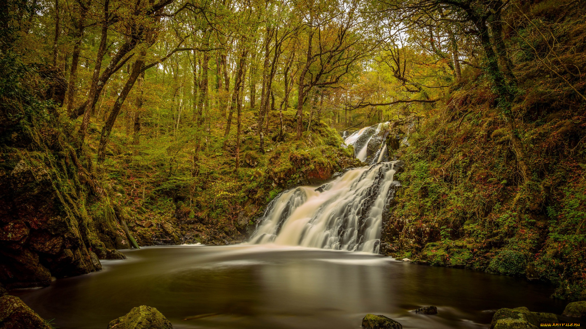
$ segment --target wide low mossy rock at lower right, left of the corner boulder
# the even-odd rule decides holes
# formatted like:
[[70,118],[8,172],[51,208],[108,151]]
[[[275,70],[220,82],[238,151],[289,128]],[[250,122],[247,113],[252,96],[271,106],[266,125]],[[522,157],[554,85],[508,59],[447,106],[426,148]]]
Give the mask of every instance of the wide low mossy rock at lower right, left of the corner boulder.
[[532,312],[527,307],[499,309],[492,316],[490,329],[539,329],[541,323],[557,323],[553,313]]

